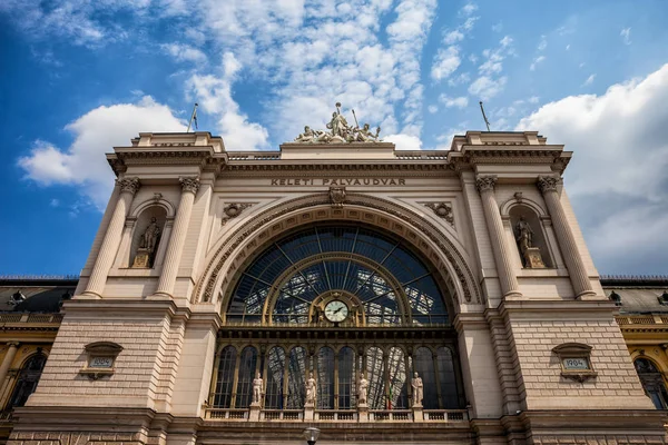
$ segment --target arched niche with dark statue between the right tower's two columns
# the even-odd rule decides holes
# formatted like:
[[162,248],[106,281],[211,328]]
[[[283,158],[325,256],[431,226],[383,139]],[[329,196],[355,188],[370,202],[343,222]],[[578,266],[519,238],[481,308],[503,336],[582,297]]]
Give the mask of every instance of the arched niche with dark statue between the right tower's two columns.
[[527,269],[554,267],[549,255],[542,225],[536,211],[528,206],[518,205],[510,209],[509,215],[515,245],[522,259],[522,267]]

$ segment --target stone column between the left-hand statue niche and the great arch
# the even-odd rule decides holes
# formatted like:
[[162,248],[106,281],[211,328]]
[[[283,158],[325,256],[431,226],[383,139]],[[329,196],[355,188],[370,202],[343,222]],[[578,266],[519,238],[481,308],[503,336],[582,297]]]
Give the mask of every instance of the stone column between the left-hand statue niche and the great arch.
[[178,209],[176,210],[174,227],[171,229],[171,235],[169,236],[169,246],[167,246],[163,273],[160,274],[158,289],[156,290],[156,295],[164,295],[171,298],[174,297],[171,294],[174,293],[174,285],[180,266],[180,256],[186,241],[195,195],[199,189],[198,177],[180,178],[179,180],[183,188],[181,198]]

